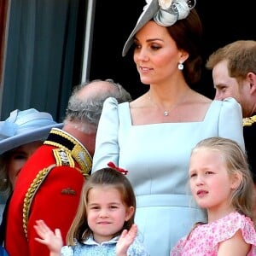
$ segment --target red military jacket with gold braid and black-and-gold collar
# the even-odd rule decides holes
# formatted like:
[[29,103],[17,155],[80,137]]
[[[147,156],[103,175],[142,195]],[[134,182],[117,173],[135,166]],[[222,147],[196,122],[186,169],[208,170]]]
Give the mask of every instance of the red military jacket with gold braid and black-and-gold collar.
[[90,168],[87,150],[66,132],[53,128],[26,162],[15,185],[5,237],[9,256],[49,256],[48,248],[35,241],[38,235],[33,225],[38,219],[52,230],[61,229],[66,244]]

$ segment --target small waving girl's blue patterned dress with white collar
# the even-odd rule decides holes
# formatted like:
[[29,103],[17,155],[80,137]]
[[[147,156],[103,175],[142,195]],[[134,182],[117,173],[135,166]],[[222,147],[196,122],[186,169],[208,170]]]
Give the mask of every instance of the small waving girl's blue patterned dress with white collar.
[[[84,243],[62,247],[61,256],[116,256],[116,243],[118,240],[119,236],[116,236],[110,241],[104,241],[99,244],[91,236]],[[138,236],[128,248],[127,256],[149,256]]]

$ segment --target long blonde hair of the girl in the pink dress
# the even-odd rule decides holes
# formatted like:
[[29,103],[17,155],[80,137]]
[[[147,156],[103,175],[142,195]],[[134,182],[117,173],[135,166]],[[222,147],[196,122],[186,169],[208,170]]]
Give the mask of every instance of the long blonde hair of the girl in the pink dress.
[[241,183],[234,190],[230,202],[237,212],[252,218],[255,224],[253,216],[255,192],[252,173],[247,162],[247,154],[243,152],[238,143],[223,137],[209,137],[202,140],[193,148],[191,154],[201,148],[218,150],[223,156],[230,177],[236,173],[241,175]]

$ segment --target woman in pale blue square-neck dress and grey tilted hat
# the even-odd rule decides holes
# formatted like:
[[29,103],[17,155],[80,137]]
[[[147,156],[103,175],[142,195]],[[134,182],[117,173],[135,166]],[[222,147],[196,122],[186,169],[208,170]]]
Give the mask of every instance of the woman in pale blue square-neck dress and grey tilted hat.
[[204,220],[187,185],[195,144],[227,137],[244,148],[236,100],[212,101],[192,89],[201,70],[201,21],[192,3],[148,1],[123,49],[125,55],[135,44],[133,59],[148,92],[130,103],[108,98],[96,135],[92,172],[110,161],[129,171],[135,223],[151,256],[169,256]]

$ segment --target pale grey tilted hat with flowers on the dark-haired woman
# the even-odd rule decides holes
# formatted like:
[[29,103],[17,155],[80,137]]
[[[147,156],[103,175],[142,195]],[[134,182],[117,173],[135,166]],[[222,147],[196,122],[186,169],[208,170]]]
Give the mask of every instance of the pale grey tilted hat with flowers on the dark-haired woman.
[[146,0],[143,13],[127,39],[122,56],[125,56],[133,44],[135,34],[149,21],[160,26],[172,26],[177,20],[183,20],[189,15],[190,9],[195,7],[196,0]]

